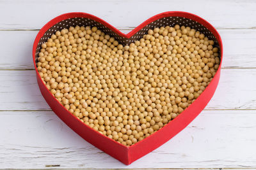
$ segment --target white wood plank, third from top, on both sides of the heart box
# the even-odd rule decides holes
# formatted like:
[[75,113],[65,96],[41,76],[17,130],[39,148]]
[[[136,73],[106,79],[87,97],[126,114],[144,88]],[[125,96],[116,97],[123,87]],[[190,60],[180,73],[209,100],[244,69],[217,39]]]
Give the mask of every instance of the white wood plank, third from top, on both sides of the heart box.
[[[223,69],[207,110],[256,109],[256,69]],[[35,71],[0,71],[0,110],[50,110]]]

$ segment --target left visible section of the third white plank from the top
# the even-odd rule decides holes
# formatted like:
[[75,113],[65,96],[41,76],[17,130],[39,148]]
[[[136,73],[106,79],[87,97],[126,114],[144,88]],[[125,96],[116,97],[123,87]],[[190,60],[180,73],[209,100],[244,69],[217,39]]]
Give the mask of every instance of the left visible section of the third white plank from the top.
[[0,71],[0,110],[49,110],[36,82],[35,70]]

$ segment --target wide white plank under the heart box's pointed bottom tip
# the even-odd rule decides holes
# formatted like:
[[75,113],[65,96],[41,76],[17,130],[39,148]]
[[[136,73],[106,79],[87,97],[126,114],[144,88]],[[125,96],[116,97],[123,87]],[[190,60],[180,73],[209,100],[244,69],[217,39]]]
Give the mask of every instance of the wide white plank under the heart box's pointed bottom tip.
[[255,122],[255,110],[202,111],[177,136],[125,166],[80,138],[52,111],[1,111],[0,168],[256,167]]

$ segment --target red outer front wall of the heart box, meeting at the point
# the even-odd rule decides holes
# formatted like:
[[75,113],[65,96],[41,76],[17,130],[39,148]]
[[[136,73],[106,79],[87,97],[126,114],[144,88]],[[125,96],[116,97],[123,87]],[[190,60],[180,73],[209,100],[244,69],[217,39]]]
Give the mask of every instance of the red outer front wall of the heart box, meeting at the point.
[[212,79],[211,83],[205,89],[205,91],[191,104],[186,110],[184,110],[177,118],[172,120],[169,124],[165,125],[162,129],[154,134],[148,136],[148,138],[132,145],[124,146],[120,143],[110,139],[99,132],[93,130],[92,128],[85,125],[74,115],[70,114],[68,110],[64,107],[60,107],[60,103],[52,96],[49,92],[40,76],[37,76],[38,85],[40,87],[41,93],[45,100],[51,106],[52,110],[58,115],[58,117],[65,122],[73,131],[75,131],[83,139],[96,146],[103,152],[108,153],[111,157],[120,160],[126,165],[131,164],[140,157],[143,157],[152,150],[155,150],[159,146],[163,145],[169,139],[173,138],[182,129],[184,129],[192,120],[205,108],[207,103],[210,101],[212,95],[214,94],[218,81],[220,78],[220,70],[217,71],[216,75]]

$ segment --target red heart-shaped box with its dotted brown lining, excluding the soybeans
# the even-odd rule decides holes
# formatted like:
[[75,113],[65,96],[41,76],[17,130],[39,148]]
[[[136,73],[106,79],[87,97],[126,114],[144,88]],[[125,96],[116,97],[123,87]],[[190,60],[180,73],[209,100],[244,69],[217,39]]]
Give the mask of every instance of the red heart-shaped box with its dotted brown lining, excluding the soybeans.
[[97,26],[101,31],[115,37],[115,39],[117,39],[122,45],[129,45],[129,43],[132,43],[134,40],[142,38],[143,34],[147,33],[148,29],[154,29],[154,27],[166,25],[173,26],[175,24],[192,27],[197,31],[204,33],[209,39],[213,39],[216,46],[220,48],[220,56],[222,61],[223,47],[220,35],[216,29],[209,24],[209,22],[191,13],[182,11],[168,11],[160,13],[140,24],[134,30],[129,32],[129,34],[124,34],[118,31],[118,29],[108,24],[104,20],[88,13],[66,13],[52,19],[38,32],[33,45],[33,62],[36,70],[36,78],[45,101],[47,101],[56,115],[58,115],[58,117],[60,117],[61,120],[63,120],[63,122],[65,122],[65,124],[67,124],[71,129],[73,129],[73,131],[115,159],[118,159],[124,164],[128,165],[134,162],[134,160],[143,157],[143,155],[146,155],[157,147],[163,145],[163,143],[182,131],[182,129],[184,129],[205,108],[218,85],[221,63],[214,78],[212,78],[211,83],[209,83],[204,92],[202,92],[202,94],[193,102],[193,104],[186,108],[186,110],[184,110],[177,118],[169,122],[159,131],[154,132],[154,134],[150,135],[148,138],[145,138],[132,146],[124,146],[113,139],[94,131],[92,128],[85,125],[78,118],[72,115],[72,113],[66,110],[51,94],[44,82],[41,80],[38,70],[36,69],[36,58],[40,52],[40,46],[51,37],[51,34],[70,26]]

